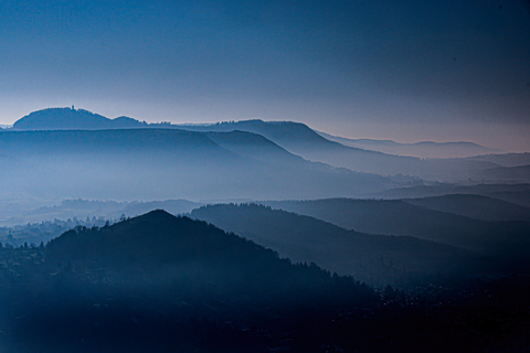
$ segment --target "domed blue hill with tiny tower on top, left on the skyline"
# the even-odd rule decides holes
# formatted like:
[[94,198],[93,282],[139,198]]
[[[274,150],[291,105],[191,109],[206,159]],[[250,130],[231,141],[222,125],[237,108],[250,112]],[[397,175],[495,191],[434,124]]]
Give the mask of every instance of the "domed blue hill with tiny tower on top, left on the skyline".
[[97,130],[140,128],[147,124],[118,117],[108,119],[102,115],[84,109],[49,108],[33,111],[13,124],[15,130]]

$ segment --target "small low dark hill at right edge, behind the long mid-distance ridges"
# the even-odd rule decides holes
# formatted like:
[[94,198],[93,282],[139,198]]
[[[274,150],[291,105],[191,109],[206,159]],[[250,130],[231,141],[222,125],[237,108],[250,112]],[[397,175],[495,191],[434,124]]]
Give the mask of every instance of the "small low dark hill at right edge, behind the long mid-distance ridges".
[[530,221],[530,207],[483,195],[453,194],[403,201],[483,221]]

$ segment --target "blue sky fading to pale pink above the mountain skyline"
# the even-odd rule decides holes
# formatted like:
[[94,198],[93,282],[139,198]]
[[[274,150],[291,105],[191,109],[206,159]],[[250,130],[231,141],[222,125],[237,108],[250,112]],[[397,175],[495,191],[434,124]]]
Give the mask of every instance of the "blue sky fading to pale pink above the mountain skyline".
[[0,0],[0,124],[294,120],[530,151],[530,2]]

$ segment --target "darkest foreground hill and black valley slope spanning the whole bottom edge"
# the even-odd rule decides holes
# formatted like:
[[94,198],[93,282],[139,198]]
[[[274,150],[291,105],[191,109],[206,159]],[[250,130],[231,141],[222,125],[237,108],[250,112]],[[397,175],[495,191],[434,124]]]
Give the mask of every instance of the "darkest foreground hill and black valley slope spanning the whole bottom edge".
[[374,296],[161,211],[0,247],[0,281],[2,353],[523,352],[530,328],[526,277]]

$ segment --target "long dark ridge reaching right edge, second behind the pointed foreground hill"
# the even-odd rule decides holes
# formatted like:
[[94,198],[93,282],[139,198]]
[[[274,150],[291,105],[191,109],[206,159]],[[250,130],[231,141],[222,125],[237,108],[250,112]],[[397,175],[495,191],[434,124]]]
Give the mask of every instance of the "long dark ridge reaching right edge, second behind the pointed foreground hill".
[[409,235],[486,253],[495,253],[510,244],[530,245],[530,222],[485,222],[401,200],[328,199],[263,204],[357,232]]

